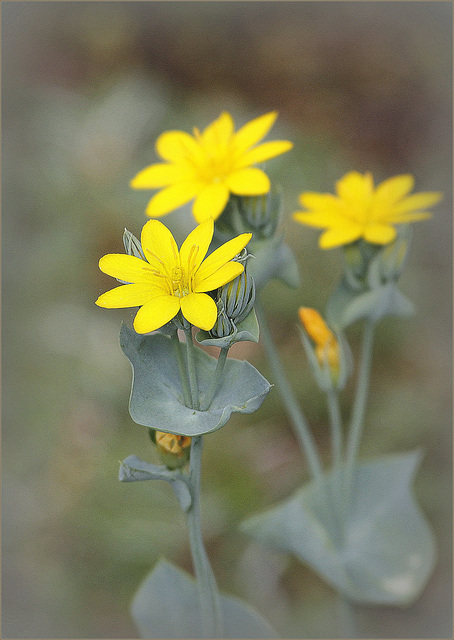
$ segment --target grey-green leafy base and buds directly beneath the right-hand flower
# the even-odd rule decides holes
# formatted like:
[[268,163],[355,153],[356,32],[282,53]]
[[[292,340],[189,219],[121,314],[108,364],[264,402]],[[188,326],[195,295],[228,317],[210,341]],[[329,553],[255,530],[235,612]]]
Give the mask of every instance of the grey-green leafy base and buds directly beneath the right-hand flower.
[[346,268],[326,308],[328,324],[338,331],[357,320],[410,316],[413,304],[397,287],[411,242],[410,225],[400,225],[396,240],[383,248],[359,241],[345,249]]

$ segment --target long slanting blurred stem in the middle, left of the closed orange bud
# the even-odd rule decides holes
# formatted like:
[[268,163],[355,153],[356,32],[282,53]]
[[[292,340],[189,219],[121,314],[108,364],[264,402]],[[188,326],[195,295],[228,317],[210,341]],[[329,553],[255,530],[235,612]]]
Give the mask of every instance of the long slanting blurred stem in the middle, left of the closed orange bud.
[[315,448],[306,418],[304,417],[300,406],[294,396],[290,383],[285,375],[284,367],[279,358],[276,345],[274,344],[265,313],[258,301],[255,303],[257,316],[259,319],[260,330],[263,336],[263,343],[268,355],[268,360],[275,379],[279,382],[277,390],[281,396],[281,400],[293,424],[296,436],[299,440],[302,450],[306,454],[309,469],[313,478],[323,480],[323,471],[320,458]]

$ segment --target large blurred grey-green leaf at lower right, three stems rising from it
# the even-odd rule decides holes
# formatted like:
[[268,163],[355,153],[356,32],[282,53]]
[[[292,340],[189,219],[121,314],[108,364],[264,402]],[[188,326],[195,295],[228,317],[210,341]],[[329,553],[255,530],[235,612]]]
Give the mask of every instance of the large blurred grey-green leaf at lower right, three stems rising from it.
[[345,494],[333,473],[325,476],[334,498],[328,511],[323,488],[311,482],[242,529],[268,547],[293,553],[350,600],[409,605],[435,563],[432,532],[411,493],[419,461],[412,452],[358,465],[340,539],[332,509]]

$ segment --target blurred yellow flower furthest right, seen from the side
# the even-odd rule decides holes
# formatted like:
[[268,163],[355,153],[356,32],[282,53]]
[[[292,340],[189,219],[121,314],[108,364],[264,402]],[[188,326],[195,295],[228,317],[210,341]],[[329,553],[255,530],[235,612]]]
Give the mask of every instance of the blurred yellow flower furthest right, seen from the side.
[[337,195],[306,191],[299,201],[308,211],[297,211],[297,222],[326,229],[320,236],[322,249],[332,249],[364,238],[372,244],[388,244],[396,237],[393,225],[424,220],[424,211],[436,204],[441,194],[414,193],[411,175],[400,175],[374,187],[372,175],[347,173],[336,183]]

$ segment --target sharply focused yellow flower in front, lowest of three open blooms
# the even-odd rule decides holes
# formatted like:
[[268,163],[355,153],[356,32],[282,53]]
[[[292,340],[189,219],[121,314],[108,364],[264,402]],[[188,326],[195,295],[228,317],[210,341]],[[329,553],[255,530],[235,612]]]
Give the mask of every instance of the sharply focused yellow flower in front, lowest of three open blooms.
[[149,220],[141,234],[145,260],[111,253],[99,261],[101,271],[131,284],[103,293],[96,304],[107,309],[140,307],[134,319],[137,333],[159,329],[180,309],[189,323],[209,331],[216,322],[217,307],[206,292],[242,273],[243,265],[232,259],[252,237],[243,233],[205,258],[213,232],[213,219],[205,220],[178,250],[169,229],[159,220]]

